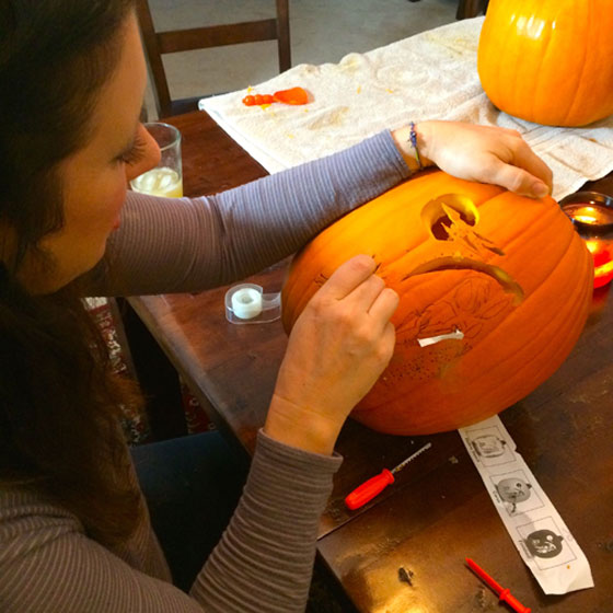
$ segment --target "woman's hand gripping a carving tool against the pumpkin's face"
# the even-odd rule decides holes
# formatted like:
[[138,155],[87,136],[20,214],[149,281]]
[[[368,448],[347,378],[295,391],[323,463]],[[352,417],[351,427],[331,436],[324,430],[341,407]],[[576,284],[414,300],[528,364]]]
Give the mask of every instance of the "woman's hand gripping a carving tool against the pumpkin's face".
[[298,317],[264,427],[287,444],[332,453],[354,406],[388,366],[395,345],[395,291],[357,255],[339,266]]

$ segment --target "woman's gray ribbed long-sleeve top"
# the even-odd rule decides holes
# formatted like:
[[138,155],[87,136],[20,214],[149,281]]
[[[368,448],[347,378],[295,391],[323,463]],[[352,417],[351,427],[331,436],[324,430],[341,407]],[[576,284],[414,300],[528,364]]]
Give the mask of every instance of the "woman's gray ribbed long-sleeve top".
[[[216,196],[161,200],[130,193],[92,291],[196,291],[244,278],[408,174],[391,135],[382,132]],[[148,520],[111,551],[88,537],[60,504],[0,489],[0,610],[303,611],[319,518],[339,464],[339,456],[308,453],[259,432],[239,507],[189,594],[171,585]]]

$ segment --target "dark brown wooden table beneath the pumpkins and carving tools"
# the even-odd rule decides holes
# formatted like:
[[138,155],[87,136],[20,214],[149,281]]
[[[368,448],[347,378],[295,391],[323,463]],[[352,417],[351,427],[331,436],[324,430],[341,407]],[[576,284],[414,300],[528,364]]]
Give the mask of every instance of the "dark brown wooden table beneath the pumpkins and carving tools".
[[[170,120],[184,135],[187,195],[216,193],[266,174],[206,113]],[[589,187],[613,195],[613,177]],[[286,263],[248,280],[280,290]],[[279,322],[232,325],[228,288],[196,296],[130,298],[217,425],[248,451],[265,419],[286,346]],[[564,366],[501,419],[588,557],[594,589],[545,597],[518,555],[458,432],[381,435],[349,420],[345,462],[322,518],[319,556],[356,610],[370,613],[507,611],[465,567],[472,557],[532,611],[613,611],[613,305],[594,293],[587,327]],[[362,509],[343,500],[357,484],[418,449],[432,448]],[[398,569],[413,572],[401,581]]]

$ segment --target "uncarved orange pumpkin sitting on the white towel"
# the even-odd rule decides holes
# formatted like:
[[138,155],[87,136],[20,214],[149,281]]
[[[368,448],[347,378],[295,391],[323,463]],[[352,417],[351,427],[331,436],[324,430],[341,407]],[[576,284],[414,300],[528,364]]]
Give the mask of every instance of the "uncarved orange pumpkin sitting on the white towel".
[[551,126],[613,113],[611,0],[490,0],[477,70],[495,106]]

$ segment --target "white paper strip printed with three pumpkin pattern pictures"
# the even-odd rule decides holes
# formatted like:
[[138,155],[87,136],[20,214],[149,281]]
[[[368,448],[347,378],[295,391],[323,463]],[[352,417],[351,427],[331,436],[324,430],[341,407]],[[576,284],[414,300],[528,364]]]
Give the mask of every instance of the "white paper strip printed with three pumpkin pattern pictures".
[[498,416],[458,430],[523,562],[547,594],[593,588],[590,565]]

